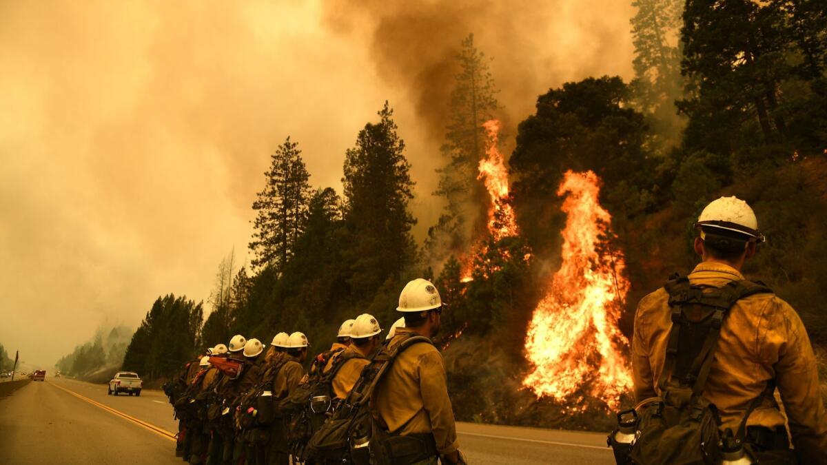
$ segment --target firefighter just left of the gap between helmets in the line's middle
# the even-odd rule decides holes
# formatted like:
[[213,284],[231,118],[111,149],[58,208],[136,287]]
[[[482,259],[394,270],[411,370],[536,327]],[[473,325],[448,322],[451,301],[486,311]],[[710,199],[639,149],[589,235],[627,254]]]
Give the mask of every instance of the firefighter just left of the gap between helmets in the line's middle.
[[[292,333],[284,344],[284,357],[287,361],[273,380],[272,395],[274,400],[281,400],[292,394],[299,387],[305,376],[302,363],[308,355],[308,338],[304,333]],[[284,422],[275,421],[270,426],[270,451],[267,454],[272,465],[288,465],[289,450]]]

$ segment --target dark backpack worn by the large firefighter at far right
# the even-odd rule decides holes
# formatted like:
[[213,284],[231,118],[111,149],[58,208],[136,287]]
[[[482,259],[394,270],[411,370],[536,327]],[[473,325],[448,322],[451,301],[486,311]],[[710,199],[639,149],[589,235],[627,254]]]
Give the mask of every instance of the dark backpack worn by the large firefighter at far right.
[[[720,288],[691,285],[675,276],[665,285],[669,293],[672,330],[667,340],[663,371],[657,380],[661,395],[643,400],[618,414],[619,428],[609,435],[617,463],[720,463],[724,451],[740,448],[749,415],[775,390],[774,380],[748,405],[739,429],[720,431],[714,404],[703,397],[729,309],[749,295],[772,293],[761,283],[732,281]],[[618,434],[630,440],[619,443]]]

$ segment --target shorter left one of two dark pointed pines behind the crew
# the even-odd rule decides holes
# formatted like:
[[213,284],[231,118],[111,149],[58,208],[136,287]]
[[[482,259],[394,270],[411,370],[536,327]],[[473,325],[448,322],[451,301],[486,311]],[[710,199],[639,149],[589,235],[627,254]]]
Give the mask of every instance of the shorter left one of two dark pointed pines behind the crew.
[[250,249],[256,255],[256,268],[275,266],[284,268],[293,253],[293,246],[304,231],[307,217],[310,185],[307,167],[298,148],[290,138],[271,156],[265,189],[253,203],[256,220]]

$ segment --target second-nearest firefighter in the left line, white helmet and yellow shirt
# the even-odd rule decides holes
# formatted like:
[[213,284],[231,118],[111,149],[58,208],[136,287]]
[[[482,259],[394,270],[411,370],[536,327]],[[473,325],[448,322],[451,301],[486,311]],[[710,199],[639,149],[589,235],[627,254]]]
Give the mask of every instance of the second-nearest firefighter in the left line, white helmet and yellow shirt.
[[[359,380],[362,368],[370,361],[368,357],[381,344],[382,328],[379,322],[370,314],[361,314],[351,324],[351,346],[342,352],[342,367],[339,367],[332,380],[333,394],[336,399],[343,400]],[[351,353],[353,354],[351,355]]]

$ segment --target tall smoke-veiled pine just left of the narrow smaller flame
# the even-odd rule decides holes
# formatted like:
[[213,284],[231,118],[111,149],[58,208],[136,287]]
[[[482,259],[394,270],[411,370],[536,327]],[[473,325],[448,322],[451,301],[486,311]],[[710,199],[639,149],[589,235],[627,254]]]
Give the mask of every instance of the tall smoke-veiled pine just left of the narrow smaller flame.
[[437,224],[428,231],[426,243],[428,254],[435,261],[462,252],[471,232],[466,222],[473,221],[480,213],[470,206],[485,205],[485,191],[476,180],[477,165],[485,155],[482,123],[495,117],[498,108],[498,91],[486,61],[485,54],[474,45],[474,35],[467,36],[457,54],[460,71],[455,77],[446,143],[442,146],[447,162],[437,170],[439,186],[434,193],[444,197],[447,203]]

